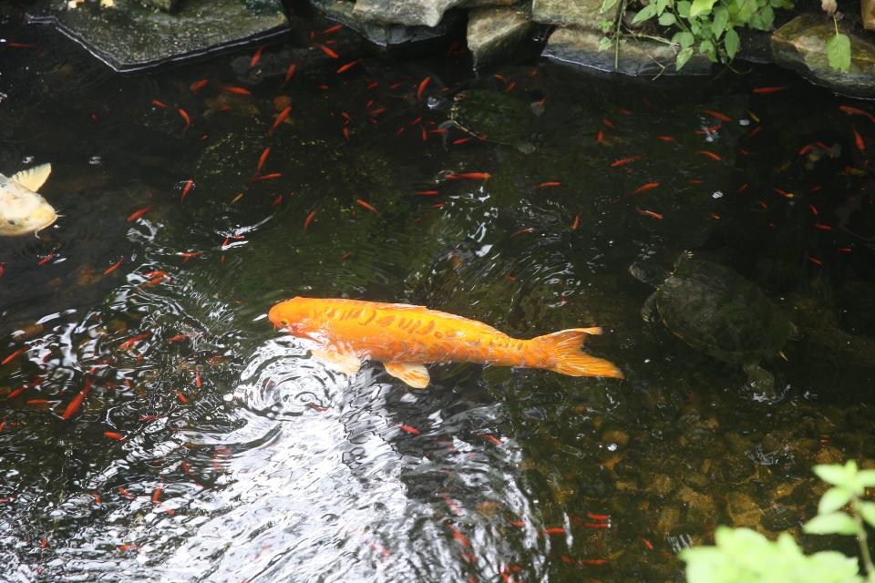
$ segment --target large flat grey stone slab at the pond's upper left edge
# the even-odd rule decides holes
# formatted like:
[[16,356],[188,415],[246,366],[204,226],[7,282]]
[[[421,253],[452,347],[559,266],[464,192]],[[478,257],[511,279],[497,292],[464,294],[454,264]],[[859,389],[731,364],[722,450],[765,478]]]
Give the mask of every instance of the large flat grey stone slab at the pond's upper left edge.
[[241,0],[187,0],[170,15],[135,0],[115,0],[115,7],[86,2],[39,0],[27,10],[31,22],[57,26],[98,59],[121,72],[159,66],[287,35],[280,0],[264,0],[257,10]]

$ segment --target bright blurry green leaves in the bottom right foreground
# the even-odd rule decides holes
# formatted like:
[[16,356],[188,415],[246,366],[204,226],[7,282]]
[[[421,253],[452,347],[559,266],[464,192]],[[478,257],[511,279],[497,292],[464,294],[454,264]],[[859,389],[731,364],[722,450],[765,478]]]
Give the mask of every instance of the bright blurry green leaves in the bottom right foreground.
[[[859,470],[856,462],[815,465],[814,473],[832,485],[818,504],[818,516],[804,526],[809,534],[853,535],[860,544],[866,577],[858,561],[837,551],[805,555],[796,540],[781,533],[777,541],[749,528],[719,527],[714,547],[685,549],[688,583],[875,583],[864,524],[875,527],[875,502],[862,499],[875,486],[875,470]],[[847,512],[840,509],[847,507]]]

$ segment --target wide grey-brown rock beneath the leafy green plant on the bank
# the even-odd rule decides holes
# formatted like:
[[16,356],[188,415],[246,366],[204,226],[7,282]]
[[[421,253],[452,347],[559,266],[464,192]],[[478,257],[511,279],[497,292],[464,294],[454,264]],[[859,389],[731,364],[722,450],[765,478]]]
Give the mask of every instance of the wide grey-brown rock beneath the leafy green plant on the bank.
[[576,66],[600,71],[619,72],[632,76],[707,75],[711,62],[704,55],[693,56],[678,73],[674,69],[674,48],[652,40],[629,40],[620,46],[618,66],[614,66],[614,51],[599,51],[602,35],[588,28],[569,26],[558,28],[550,36],[543,56]]

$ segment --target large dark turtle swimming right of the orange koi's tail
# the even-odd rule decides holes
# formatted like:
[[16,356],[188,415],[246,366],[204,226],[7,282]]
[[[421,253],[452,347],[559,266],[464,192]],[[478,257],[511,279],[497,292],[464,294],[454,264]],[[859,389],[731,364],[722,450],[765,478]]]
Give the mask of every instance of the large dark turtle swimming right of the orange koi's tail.
[[760,362],[797,336],[793,322],[752,281],[731,269],[682,253],[668,273],[635,262],[629,268],[656,291],[642,308],[645,322],[662,323],[695,350],[718,361],[740,364],[748,383],[774,395],[774,376]]

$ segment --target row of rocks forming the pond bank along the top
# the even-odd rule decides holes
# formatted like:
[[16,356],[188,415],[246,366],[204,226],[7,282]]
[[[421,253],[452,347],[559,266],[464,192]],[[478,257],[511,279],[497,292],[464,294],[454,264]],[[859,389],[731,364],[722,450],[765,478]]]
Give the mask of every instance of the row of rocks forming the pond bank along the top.
[[[707,75],[715,66],[694,51],[675,63],[682,45],[668,42],[673,30],[641,28],[633,9],[602,0],[40,0],[29,10],[35,22],[53,24],[116,70],[135,70],[199,56],[222,47],[266,40],[283,32],[283,9],[300,36],[314,15],[348,26],[370,43],[418,55],[467,47],[475,69],[510,62],[532,50],[572,66],[625,75]],[[621,13],[621,6],[624,12]],[[774,62],[813,83],[852,97],[875,97],[875,26],[870,2],[844,15],[850,44],[849,70],[833,69],[827,43],[838,25],[818,6],[794,17],[779,11],[774,33],[738,28],[738,58]],[[674,17],[670,20],[674,20]],[[669,22],[669,21],[666,21]],[[705,23],[708,24],[708,23]],[[606,34],[624,28],[623,42]],[[644,34],[644,33],[647,34]],[[662,37],[665,36],[665,37]]]

